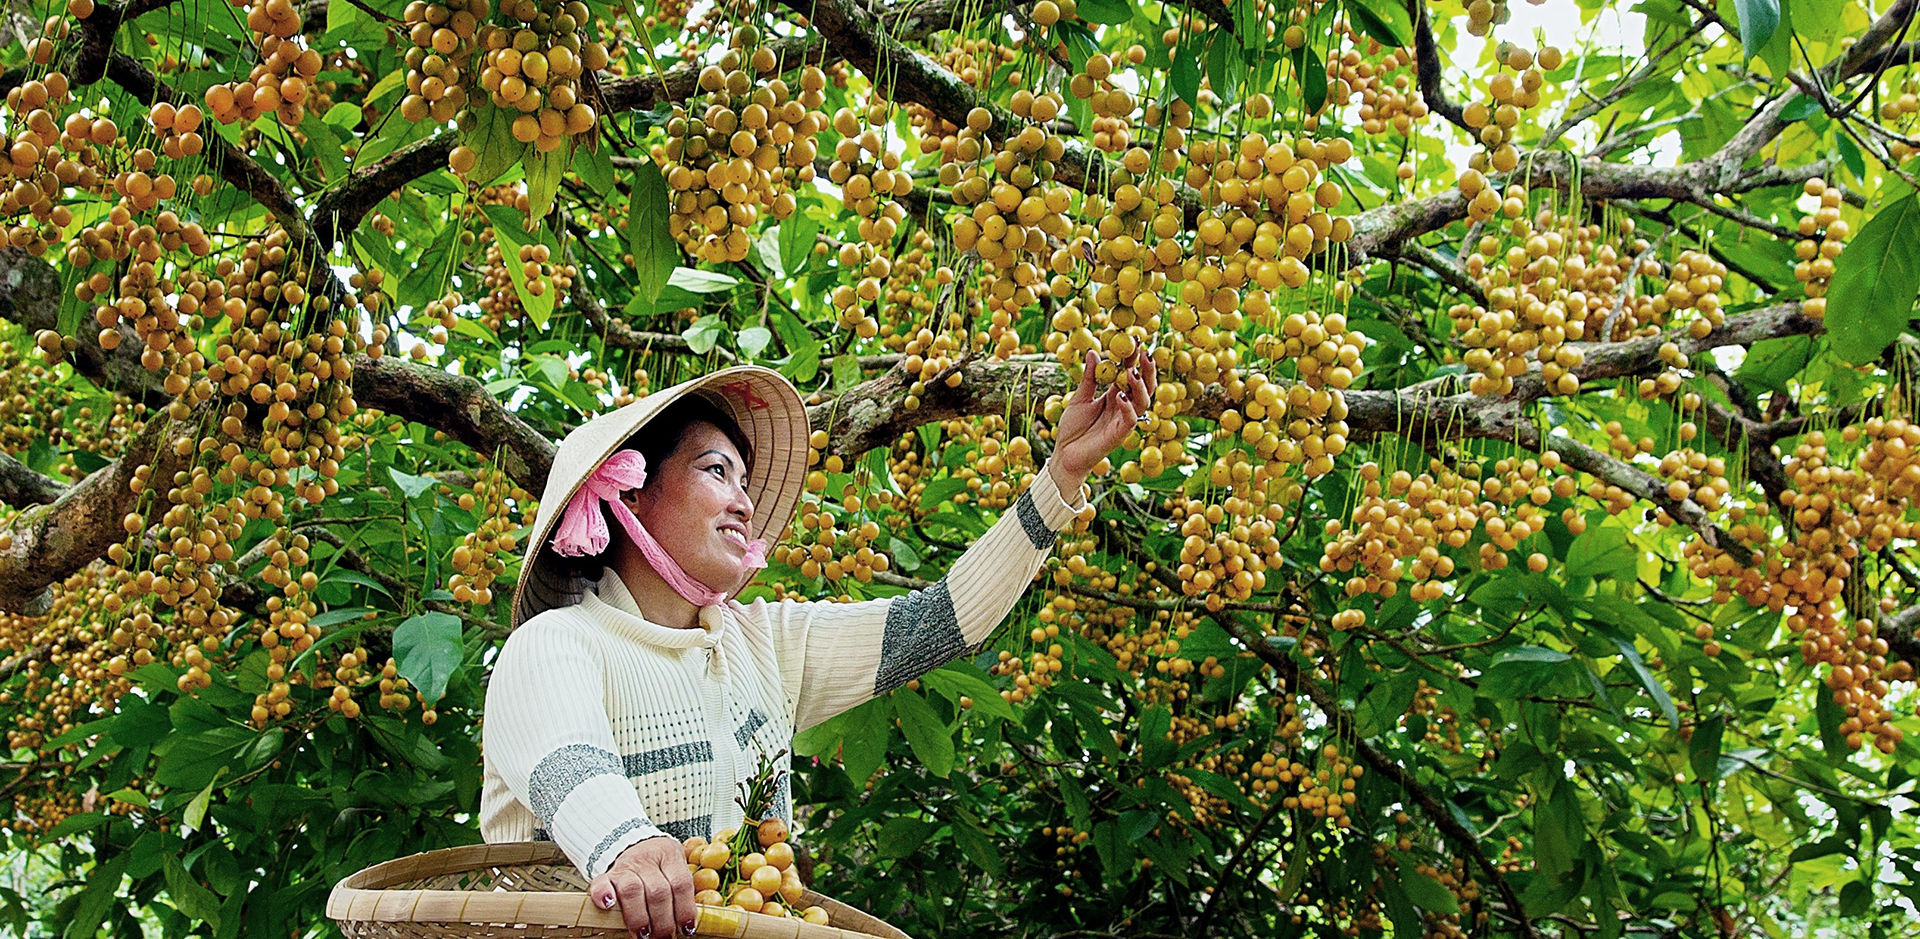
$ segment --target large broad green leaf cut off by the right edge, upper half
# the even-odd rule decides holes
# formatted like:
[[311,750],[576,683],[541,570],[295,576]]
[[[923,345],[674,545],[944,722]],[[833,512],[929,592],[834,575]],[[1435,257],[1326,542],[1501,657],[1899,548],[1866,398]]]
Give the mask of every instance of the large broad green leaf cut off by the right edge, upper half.
[[1834,353],[1853,365],[1880,357],[1912,319],[1920,298],[1920,194],[1908,192],[1874,213],[1834,259],[1826,292],[1826,332]]

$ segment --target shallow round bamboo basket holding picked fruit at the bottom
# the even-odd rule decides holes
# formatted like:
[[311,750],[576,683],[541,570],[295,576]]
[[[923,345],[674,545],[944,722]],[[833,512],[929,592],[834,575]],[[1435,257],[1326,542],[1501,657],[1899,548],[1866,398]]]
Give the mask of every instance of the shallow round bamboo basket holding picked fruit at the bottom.
[[[616,939],[618,906],[588,903],[586,881],[551,841],[426,851],[374,864],[334,885],[326,916],[349,939]],[[695,935],[730,939],[910,939],[831,897],[806,891],[833,926],[701,906]]]

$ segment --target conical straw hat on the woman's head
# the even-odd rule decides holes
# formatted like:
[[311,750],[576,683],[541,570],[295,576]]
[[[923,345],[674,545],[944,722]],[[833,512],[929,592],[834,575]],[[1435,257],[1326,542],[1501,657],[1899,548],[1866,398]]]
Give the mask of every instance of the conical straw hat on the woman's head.
[[607,457],[641,432],[666,405],[689,394],[703,396],[732,415],[753,442],[753,472],[747,476],[753,538],[780,542],[793,522],[793,513],[799,511],[801,488],[806,482],[806,405],[801,403],[801,392],[793,382],[772,369],[758,365],[720,369],[653,392],[566,434],[553,455],[553,469],[547,470],[540,517],[534,518],[532,538],[526,542],[526,563],[520,565],[520,582],[513,588],[513,626],[538,613],[580,601],[589,582],[576,576],[572,566],[547,545],[561,513]]

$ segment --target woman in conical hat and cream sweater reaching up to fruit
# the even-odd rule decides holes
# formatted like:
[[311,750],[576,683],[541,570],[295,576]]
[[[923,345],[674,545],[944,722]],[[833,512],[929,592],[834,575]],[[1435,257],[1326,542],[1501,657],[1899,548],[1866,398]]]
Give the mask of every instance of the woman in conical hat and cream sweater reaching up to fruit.
[[[804,486],[780,373],[724,369],[568,434],[488,686],[480,833],[557,841],[634,935],[691,933],[680,839],[739,824],[762,755],[985,641],[1025,591],[1152,401],[1150,359],[1098,394],[1094,363],[1014,509],[941,582],[866,603],[732,601]],[[791,822],[785,783],[774,812]]]

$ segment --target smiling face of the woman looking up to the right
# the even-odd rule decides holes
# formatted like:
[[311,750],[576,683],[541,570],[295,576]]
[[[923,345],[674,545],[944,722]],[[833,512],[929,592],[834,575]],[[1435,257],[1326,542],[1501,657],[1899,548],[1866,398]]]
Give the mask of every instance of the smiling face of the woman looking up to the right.
[[701,584],[733,590],[743,574],[753,499],[747,461],[720,428],[691,424],[647,484],[626,494],[634,518]]

